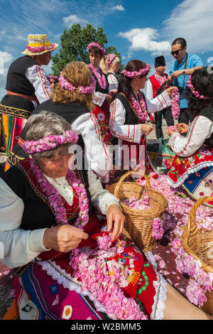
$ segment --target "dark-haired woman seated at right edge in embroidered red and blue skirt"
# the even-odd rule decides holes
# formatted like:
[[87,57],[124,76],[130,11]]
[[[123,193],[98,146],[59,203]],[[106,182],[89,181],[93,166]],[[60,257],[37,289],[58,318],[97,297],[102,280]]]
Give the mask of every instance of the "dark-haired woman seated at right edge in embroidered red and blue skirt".
[[182,185],[198,200],[213,195],[213,75],[208,68],[195,70],[189,77],[186,97],[191,126],[180,123],[179,132],[167,129],[169,145],[176,153],[168,183],[173,188]]

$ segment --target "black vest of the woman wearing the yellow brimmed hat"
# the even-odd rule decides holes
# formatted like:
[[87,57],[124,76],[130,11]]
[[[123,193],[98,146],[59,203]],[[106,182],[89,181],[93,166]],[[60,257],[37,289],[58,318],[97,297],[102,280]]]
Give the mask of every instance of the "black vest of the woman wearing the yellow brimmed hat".
[[13,61],[6,77],[6,90],[18,94],[35,96],[35,88],[26,77],[26,70],[33,65],[39,64],[28,55],[24,55]]

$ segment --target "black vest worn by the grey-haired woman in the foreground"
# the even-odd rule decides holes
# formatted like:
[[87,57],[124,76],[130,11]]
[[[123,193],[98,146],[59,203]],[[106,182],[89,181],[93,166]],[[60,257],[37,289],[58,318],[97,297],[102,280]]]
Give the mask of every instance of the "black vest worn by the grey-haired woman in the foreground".
[[[16,166],[12,166],[6,171],[1,178],[13,190],[16,195],[23,200],[24,210],[21,220],[20,229],[23,230],[38,230],[41,228],[48,228],[57,225],[55,222],[55,215],[53,208],[48,203],[48,198],[43,195],[38,185],[33,184],[31,179],[23,168],[23,161]],[[32,171],[30,170],[30,173]],[[89,182],[87,171],[79,171],[85,189],[87,190],[87,197],[89,199],[89,212],[92,210],[91,197],[89,193]],[[70,224],[74,224],[77,219],[77,214],[72,214],[68,218]]]

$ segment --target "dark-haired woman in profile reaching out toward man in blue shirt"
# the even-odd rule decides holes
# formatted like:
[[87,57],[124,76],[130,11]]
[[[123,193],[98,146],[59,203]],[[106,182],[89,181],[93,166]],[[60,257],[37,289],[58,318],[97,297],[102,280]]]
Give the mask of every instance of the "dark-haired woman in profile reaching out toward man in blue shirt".
[[[118,92],[110,107],[110,130],[120,148],[121,168],[144,169],[157,177],[146,151],[146,135],[153,131],[148,125],[148,114],[158,112],[171,104],[170,87],[149,101],[141,92],[145,87],[150,65],[141,60],[130,60],[121,72]],[[127,152],[127,153],[125,153]],[[122,154],[121,154],[122,153]]]

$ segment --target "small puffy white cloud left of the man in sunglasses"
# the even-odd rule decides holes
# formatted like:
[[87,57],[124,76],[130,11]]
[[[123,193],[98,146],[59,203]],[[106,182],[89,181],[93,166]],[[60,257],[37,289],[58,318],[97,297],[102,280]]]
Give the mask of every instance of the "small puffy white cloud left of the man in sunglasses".
[[129,50],[146,50],[152,51],[153,54],[170,50],[170,43],[159,41],[158,31],[153,28],[134,28],[126,33],[119,33],[119,36],[131,43]]

